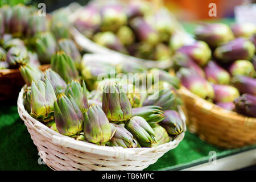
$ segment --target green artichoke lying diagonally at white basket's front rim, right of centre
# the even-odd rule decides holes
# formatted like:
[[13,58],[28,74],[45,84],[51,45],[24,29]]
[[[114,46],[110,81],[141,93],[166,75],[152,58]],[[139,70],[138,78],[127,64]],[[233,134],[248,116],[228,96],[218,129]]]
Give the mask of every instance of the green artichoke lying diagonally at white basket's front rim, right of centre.
[[154,147],[157,145],[155,132],[147,121],[139,116],[134,116],[125,122],[125,128],[137,139],[141,147]]

